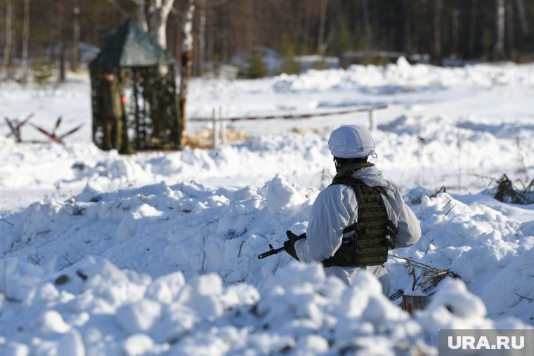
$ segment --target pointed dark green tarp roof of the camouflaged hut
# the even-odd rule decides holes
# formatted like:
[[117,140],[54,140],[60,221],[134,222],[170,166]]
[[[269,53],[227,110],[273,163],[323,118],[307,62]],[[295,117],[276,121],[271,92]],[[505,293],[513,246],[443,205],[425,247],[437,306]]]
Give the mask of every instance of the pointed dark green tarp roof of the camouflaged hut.
[[89,67],[92,70],[111,70],[117,67],[154,67],[173,64],[172,55],[130,18],[117,29],[115,36],[91,61]]

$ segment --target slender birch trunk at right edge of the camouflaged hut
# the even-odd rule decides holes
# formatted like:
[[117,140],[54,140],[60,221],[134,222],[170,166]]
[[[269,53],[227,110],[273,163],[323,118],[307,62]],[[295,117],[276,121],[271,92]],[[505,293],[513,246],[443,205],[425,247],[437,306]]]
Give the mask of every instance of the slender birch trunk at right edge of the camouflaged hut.
[[188,98],[189,79],[191,77],[193,56],[193,15],[195,15],[195,1],[187,0],[183,11],[182,45],[181,45],[181,74],[180,74],[180,118],[182,132],[185,131],[185,105]]

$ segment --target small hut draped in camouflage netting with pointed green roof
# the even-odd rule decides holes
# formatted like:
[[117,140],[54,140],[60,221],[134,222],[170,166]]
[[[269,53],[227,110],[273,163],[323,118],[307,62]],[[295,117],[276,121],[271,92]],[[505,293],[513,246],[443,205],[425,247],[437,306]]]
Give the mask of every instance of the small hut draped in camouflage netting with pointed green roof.
[[93,142],[98,147],[104,148],[99,88],[104,73],[112,72],[125,99],[120,151],[180,148],[182,124],[176,100],[174,58],[134,20],[127,20],[117,29],[89,68]]

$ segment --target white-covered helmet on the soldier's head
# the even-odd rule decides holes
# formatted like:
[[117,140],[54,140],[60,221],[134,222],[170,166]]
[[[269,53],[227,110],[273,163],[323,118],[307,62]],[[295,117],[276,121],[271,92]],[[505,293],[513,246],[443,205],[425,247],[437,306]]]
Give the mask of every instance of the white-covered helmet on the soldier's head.
[[375,140],[369,130],[359,125],[336,128],[328,139],[328,149],[334,157],[339,158],[377,158],[375,148]]

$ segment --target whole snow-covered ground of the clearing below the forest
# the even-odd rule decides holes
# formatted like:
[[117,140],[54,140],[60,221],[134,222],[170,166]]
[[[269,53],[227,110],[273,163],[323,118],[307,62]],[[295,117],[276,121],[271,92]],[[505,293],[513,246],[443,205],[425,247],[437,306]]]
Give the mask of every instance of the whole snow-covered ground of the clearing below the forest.
[[[65,145],[0,138],[0,355],[436,355],[438,329],[534,327],[534,206],[482,193],[503,173],[534,178],[534,65],[401,59],[195,79],[190,95],[191,118],[388,105],[375,112],[373,161],[423,232],[396,253],[461,278],[408,315],[365,273],[346,287],[285,253],[256,258],[306,229],[334,174],[328,135],[367,125],[365,113],[236,121],[247,142],[120,156],[91,143],[86,74],[57,88],[1,84],[4,116],[84,126]],[[22,138],[46,139],[30,126]],[[392,292],[422,292],[405,260],[386,266]]]

